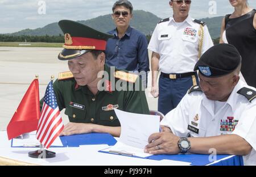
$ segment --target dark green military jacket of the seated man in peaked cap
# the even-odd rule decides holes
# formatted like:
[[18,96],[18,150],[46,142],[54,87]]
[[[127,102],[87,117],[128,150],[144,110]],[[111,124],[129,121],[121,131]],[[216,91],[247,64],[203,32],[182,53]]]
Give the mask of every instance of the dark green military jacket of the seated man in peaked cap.
[[[110,73],[110,68],[105,65],[105,71]],[[139,79],[139,77],[137,77]],[[110,79],[109,79],[110,80]],[[114,78],[111,86],[120,82]],[[126,83],[126,81],[122,82]],[[141,87],[141,79],[139,79]],[[135,82],[135,83],[137,83]],[[128,86],[135,83],[127,82]],[[65,114],[68,115],[72,123],[93,123],[105,126],[119,127],[120,123],[115,115],[114,108],[122,111],[149,114],[146,95],[142,88],[139,91],[117,91],[116,89],[98,91],[93,95],[87,86],[78,86],[74,78],[56,80],[53,83],[59,109],[65,108]],[[135,87],[133,87],[135,90]],[[43,99],[41,100],[41,106]]]

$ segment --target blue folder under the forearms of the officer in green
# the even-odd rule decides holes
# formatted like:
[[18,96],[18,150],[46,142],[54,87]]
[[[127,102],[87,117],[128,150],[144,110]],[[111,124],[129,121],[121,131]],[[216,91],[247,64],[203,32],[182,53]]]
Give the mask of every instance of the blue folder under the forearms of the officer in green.
[[79,147],[80,145],[115,145],[117,140],[109,133],[87,133],[71,136],[61,136],[60,140],[64,147]]

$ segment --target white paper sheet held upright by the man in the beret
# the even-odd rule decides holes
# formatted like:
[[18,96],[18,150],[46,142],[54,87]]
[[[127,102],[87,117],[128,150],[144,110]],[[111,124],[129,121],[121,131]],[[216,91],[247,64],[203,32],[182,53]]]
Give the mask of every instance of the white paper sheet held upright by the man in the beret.
[[148,144],[148,137],[159,132],[160,117],[142,115],[114,109],[121,124],[121,135],[117,144],[102,151],[110,153],[147,157],[144,147]]

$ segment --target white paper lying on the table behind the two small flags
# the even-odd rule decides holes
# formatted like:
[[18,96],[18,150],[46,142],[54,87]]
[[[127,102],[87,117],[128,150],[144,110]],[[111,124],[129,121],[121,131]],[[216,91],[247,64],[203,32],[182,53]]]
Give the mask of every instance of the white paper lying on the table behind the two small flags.
[[[36,139],[36,132],[23,134],[23,138],[13,138],[13,147],[39,147],[40,142]],[[51,146],[63,146],[60,137],[57,137]]]

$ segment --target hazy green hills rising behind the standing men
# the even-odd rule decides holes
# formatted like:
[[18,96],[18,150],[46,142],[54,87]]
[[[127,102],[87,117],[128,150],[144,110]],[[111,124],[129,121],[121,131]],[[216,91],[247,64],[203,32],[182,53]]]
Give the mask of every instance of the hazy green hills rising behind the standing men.
[[[156,24],[159,22],[160,18],[158,16],[152,14],[151,12],[146,12],[143,10],[134,10],[133,19],[131,20],[131,26],[135,29],[138,29],[145,35],[151,34],[154,31]],[[204,18],[201,19],[207,23],[209,28],[210,35],[213,39],[220,36],[220,26],[222,16],[214,17],[214,18]],[[108,32],[115,28],[111,14],[98,16],[97,18],[89,19],[89,20],[81,20],[77,21],[82,24],[86,24],[92,28],[97,29],[101,32]],[[51,23],[43,28],[36,29],[24,29],[19,32],[10,33],[7,35],[13,36],[59,36],[63,35],[61,29],[59,28],[57,23]]]

